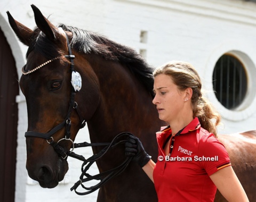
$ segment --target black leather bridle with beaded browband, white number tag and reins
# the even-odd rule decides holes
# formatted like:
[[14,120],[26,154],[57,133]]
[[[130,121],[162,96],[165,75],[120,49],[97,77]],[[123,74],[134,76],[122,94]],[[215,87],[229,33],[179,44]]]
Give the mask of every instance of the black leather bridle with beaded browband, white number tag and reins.
[[[129,136],[129,134],[131,134],[131,133],[130,132],[119,133],[119,134],[117,134],[117,136],[111,142],[106,142],[106,143],[91,143],[90,144],[90,143],[87,143],[87,142],[82,142],[82,143],[76,144],[76,143],[73,142],[73,140],[70,139],[71,112],[72,112],[73,108],[75,109],[75,111],[77,112],[77,115],[79,117],[80,124],[81,124],[80,128],[84,128],[85,124],[86,124],[86,120],[83,119],[81,113],[78,110],[78,104],[75,102],[76,92],[79,92],[79,90],[82,87],[82,79],[81,79],[81,75],[78,72],[75,71],[75,65],[74,65],[75,55],[73,55],[72,52],[71,52],[71,47],[70,47],[70,44],[69,44],[68,36],[67,36],[66,32],[63,31],[62,28],[59,28],[59,30],[61,32],[65,33],[69,55],[55,57],[52,60],[49,60],[49,61],[37,66],[36,68],[34,68],[33,70],[30,70],[30,71],[26,71],[25,66],[23,66],[22,73],[24,75],[27,75],[27,74],[33,73],[34,71],[42,68],[43,66],[45,66],[46,64],[48,64],[52,61],[60,59],[61,57],[69,58],[72,88],[71,88],[68,112],[67,112],[67,115],[65,117],[65,120],[63,122],[61,122],[60,124],[58,124],[53,129],[51,129],[49,132],[40,133],[40,132],[34,132],[34,131],[27,131],[27,132],[25,132],[25,137],[37,137],[37,138],[45,139],[47,141],[47,143],[49,143],[50,145],[53,146],[55,152],[59,156],[61,156],[63,160],[67,159],[67,157],[70,156],[70,157],[79,159],[80,161],[83,161],[82,169],[81,169],[82,174],[79,178],[79,181],[77,181],[70,190],[71,191],[75,190],[75,192],[78,195],[87,195],[88,193],[91,193],[91,192],[99,189],[101,186],[103,186],[103,184],[105,184],[107,181],[112,179],[114,176],[122,173],[125,170],[125,168],[129,165],[129,163],[131,162],[131,159],[132,159],[131,156],[126,157],[125,161],[121,165],[119,165],[119,166],[117,166],[114,169],[111,169],[109,171],[105,171],[105,172],[102,172],[102,173],[99,173],[99,174],[93,175],[93,176],[90,175],[89,173],[87,173],[90,166],[93,163],[95,163],[99,158],[101,158],[103,155],[105,155],[110,148],[113,148],[118,144],[124,144],[124,142],[127,141],[125,137]],[[58,140],[57,142],[55,142],[54,138],[52,137],[53,134],[56,133],[57,131],[59,131],[60,129],[62,129],[63,127],[66,128],[65,137]],[[65,149],[59,145],[59,142],[62,141],[62,140],[71,141],[71,143],[73,145],[71,151],[65,152]],[[91,146],[91,147],[93,147],[93,146],[105,146],[105,148],[103,148],[98,154],[94,154],[90,158],[87,158],[87,159],[85,159],[82,155],[77,155],[73,152],[74,148],[87,147],[87,146]],[[92,187],[85,187],[83,185],[84,182],[88,182],[88,181],[91,181],[91,180],[100,180],[100,182],[98,184],[96,184],[95,186],[92,186]],[[87,191],[85,191],[85,192],[76,191],[76,189],[78,188],[79,185],[81,185]]]

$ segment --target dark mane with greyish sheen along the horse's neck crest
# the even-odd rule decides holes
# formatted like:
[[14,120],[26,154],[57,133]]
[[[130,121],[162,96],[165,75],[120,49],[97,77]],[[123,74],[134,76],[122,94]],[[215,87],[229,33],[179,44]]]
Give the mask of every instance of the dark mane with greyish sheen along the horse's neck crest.
[[59,27],[64,31],[73,33],[73,38],[70,41],[72,48],[85,54],[94,53],[102,56],[105,60],[112,60],[127,66],[143,86],[145,86],[146,90],[150,92],[150,95],[152,97],[154,96],[153,68],[134,49],[118,44],[95,32],[65,26],[64,24],[60,24]]

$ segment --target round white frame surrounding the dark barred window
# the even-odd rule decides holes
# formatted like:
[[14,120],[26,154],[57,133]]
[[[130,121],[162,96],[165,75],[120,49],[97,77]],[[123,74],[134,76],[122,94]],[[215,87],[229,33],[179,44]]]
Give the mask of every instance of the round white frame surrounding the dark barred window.
[[[239,51],[238,51],[239,50]],[[247,72],[247,92],[241,105],[233,110],[228,110],[224,107],[217,97],[213,89],[212,74],[215,68],[215,64],[219,58],[224,54],[231,54],[238,58],[239,61],[244,65],[245,71]],[[254,61],[253,61],[254,59]],[[207,90],[206,97],[211,101],[213,106],[221,114],[222,118],[230,121],[241,121],[246,120],[248,117],[253,115],[256,111],[256,58],[254,57],[253,49],[245,49],[243,46],[234,48],[234,43],[229,43],[220,46],[215,49],[214,52],[209,56],[206,68],[204,72],[204,89]]]

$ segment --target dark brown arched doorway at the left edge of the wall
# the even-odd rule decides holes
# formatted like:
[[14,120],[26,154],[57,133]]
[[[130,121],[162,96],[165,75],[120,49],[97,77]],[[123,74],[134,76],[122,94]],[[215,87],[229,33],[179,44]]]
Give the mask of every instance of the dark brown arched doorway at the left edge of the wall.
[[0,201],[14,202],[17,148],[18,74],[0,28]]

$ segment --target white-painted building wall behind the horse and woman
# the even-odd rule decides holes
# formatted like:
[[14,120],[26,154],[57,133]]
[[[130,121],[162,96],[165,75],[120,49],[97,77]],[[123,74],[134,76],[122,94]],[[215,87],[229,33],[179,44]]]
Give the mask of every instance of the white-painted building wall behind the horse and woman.
[[[14,35],[9,26],[6,11],[10,11],[15,20],[34,29],[34,13],[30,4],[35,4],[46,17],[49,16],[53,24],[63,23],[99,32],[118,43],[135,48],[153,66],[162,65],[170,60],[192,63],[201,75],[203,87],[209,91],[207,96],[222,115],[223,125],[219,128],[219,132],[232,133],[256,129],[255,1],[1,0],[0,28],[3,36],[0,35],[2,37],[0,42],[7,40],[11,49],[10,53],[15,61],[18,78],[21,76],[21,67],[26,63],[27,47],[21,44]],[[3,53],[3,46],[0,50],[2,51],[0,53]],[[225,65],[221,66],[217,63],[220,58],[222,62],[225,62],[228,60],[226,57],[235,58],[232,63],[236,65],[236,71],[232,70],[234,77],[227,72]],[[3,70],[9,67],[4,66],[2,61],[4,57],[0,56],[0,79],[2,80],[0,81],[0,96],[5,98],[9,91],[4,92],[3,89],[5,85],[7,87],[10,84],[4,82],[3,78],[6,75]],[[218,71],[224,73],[219,74]],[[218,81],[220,79],[223,82],[223,86],[230,79],[228,88],[220,90],[218,85],[214,86],[213,75]],[[245,86],[241,86],[242,80],[246,83]],[[240,90],[235,90],[238,88]],[[218,98],[214,90],[217,91]],[[240,99],[235,99],[236,97]],[[0,100],[0,103],[2,102],[0,116],[3,118],[5,107],[2,100]],[[15,202],[96,201],[97,192],[87,196],[78,196],[70,192],[70,187],[79,178],[81,166],[81,163],[74,159],[69,159],[70,170],[66,179],[57,188],[43,189],[35,181],[29,179],[25,167],[26,142],[24,137],[27,130],[27,111],[26,100],[21,91],[14,101],[18,104],[18,133],[14,134],[15,137],[17,136],[18,146],[12,148],[17,161],[15,182],[11,184],[14,188],[15,183]],[[6,139],[6,134],[0,133],[1,140]],[[90,141],[86,129],[79,132],[78,136],[78,141]],[[5,149],[5,145],[1,145],[1,148]],[[84,156],[90,156],[91,149],[83,150],[83,153]],[[0,157],[1,161],[5,162],[5,156]],[[5,173],[12,167],[14,165],[1,168],[0,171]],[[97,169],[92,172],[97,173]],[[4,174],[0,176],[0,181],[3,182]],[[0,200],[1,194],[4,195],[5,192],[3,190],[2,183],[0,184]],[[4,201],[7,202],[7,200]]]

